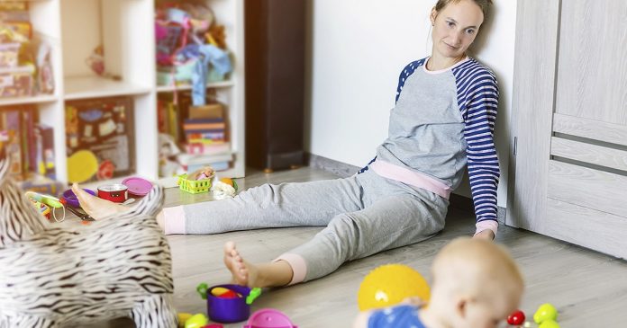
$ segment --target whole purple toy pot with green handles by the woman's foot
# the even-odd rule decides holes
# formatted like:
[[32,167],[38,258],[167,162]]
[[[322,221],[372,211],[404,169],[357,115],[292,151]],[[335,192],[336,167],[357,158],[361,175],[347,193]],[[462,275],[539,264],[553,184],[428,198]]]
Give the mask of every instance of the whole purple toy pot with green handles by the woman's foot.
[[209,319],[217,323],[238,323],[248,319],[250,305],[261,294],[260,288],[232,284],[209,288],[207,284],[201,283],[196,291],[207,300]]

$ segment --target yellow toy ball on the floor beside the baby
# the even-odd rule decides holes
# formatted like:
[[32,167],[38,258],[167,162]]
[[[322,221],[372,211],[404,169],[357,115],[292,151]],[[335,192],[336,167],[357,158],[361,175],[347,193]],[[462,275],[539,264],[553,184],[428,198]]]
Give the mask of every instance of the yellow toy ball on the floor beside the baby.
[[370,271],[361,281],[357,302],[360,311],[401,303],[406,297],[428,302],[431,290],[427,280],[403,264],[386,264]]

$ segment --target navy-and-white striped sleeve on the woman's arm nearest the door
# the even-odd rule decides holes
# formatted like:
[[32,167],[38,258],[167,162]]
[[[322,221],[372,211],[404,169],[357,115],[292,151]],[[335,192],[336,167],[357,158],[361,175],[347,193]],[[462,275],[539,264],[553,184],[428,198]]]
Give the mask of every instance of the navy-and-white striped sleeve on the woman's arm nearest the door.
[[496,188],[500,170],[494,141],[498,84],[495,75],[480,66],[469,73],[463,87],[462,115],[466,123],[464,137],[468,144],[468,177],[477,216],[477,232],[498,228]]

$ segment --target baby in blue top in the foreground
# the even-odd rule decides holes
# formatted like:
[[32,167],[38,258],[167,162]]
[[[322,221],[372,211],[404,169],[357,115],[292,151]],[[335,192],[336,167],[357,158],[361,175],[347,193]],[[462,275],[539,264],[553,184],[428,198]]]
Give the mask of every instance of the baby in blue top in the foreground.
[[354,327],[496,327],[518,307],[523,277],[512,257],[492,242],[459,238],[432,265],[429,304],[362,312]]

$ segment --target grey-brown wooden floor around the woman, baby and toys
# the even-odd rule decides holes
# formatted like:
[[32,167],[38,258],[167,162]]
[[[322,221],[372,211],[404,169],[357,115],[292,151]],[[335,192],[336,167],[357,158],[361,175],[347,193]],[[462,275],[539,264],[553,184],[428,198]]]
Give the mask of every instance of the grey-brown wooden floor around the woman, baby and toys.
[[[334,178],[331,173],[304,167],[279,173],[252,173],[238,180],[241,189],[265,182],[304,182]],[[166,206],[207,199],[168,189]],[[283,311],[301,328],[349,327],[357,315],[357,291],[361,279],[379,265],[404,263],[429,279],[433,256],[459,235],[474,232],[474,215],[450,208],[447,226],[431,240],[346,263],[323,279],[290,288],[267,290],[252,310],[272,307]],[[221,235],[171,235],[168,241],[174,259],[175,305],[179,312],[205,313],[204,301],[196,294],[201,282],[209,286],[226,283],[230,274],[223,267],[223,244],[235,241],[246,258],[270,261],[320,231],[319,227],[295,227],[233,232]],[[594,233],[594,232],[591,232]],[[570,327],[627,326],[627,263],[576,245],[510,227],[500,227],[496,243],[513,253],[526,279],[521,308],[531,318],[542,303],[559,310],[559,324]],[[243,323],[242,323],[243,324]],[[241,327],[229,324],[225,327]],[[97,327],[132,327],[125,320]],[[532,325],[536,326],[536,325]]]

